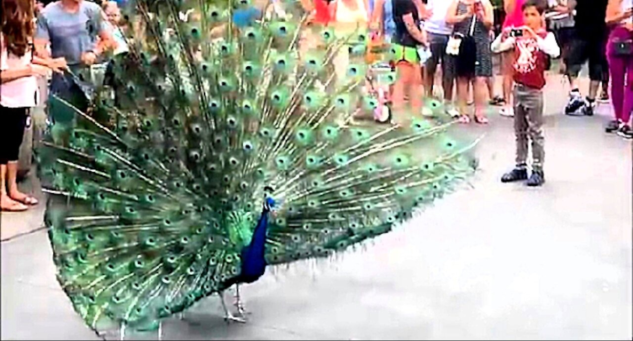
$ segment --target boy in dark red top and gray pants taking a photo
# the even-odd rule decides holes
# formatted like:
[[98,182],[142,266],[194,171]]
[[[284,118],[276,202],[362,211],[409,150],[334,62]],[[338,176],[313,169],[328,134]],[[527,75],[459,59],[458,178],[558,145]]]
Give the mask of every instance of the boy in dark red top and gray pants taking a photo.
[[528,136],[532,140],[532,175],[528,186],[541,186],[543,173],[544,136],[543,92],[547,56],[557,58],[560,48],[553,33],[544,28],[546,3],[528,0],[523,4],[525,26],[505,30],[492,42],[492,51],[500,53],[514,49],[513,79],[515,134],[517,136],[517,167],[501,177],[503,183],[527,179]]

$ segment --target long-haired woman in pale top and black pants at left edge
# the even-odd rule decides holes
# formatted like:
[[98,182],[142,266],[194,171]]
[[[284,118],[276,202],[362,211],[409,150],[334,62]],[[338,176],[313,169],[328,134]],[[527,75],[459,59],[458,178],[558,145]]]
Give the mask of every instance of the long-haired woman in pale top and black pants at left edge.
[[[37,204],[33,196],[18,190],[18,154],[27,123],[28,110],[36,105],[38,76],[63,61],[32,56],[34,2],[3,0],[0,12],[0,208],[16,212]],[[43,65],[40,65],[43,64]]]

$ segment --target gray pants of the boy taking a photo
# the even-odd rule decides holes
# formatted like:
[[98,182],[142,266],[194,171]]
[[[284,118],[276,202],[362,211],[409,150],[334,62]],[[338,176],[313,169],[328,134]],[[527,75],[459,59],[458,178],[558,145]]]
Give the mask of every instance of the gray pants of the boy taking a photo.
[[543,92],[541,89],[515,85],[515,135],[517,137],[517,165],[527,162],[528,136],[532,140],[532,169],[542,171],[545,159],[543,136]]

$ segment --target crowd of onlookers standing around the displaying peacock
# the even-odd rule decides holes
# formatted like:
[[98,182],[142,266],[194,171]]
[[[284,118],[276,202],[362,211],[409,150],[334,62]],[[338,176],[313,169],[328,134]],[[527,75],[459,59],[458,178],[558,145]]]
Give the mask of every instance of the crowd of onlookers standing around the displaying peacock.
[[[391,89],[396,115],[420,113],[424,95],[436,96],[436,89],[441,88],[446,113],[460,122],[487,124],[489,103],[501,105],[501,115],[515,117],[517,167],[502,181],[527,177],[528,139],[532,139],[534,159],[529,184],[537,186],[544,181],[542,87],[544,71],[559,54],[561,72],[567,75],[571,89],[565,112],[592,115],[602,87],[600,99],[610,99],[615,114],[606,131],[633,138],[632,0],[504,0],[501,25],[495,23],[491,0],[300,2],[313,14],[313,22],[339,27],[349,24],[351,29],[361,23],[373,36],[391,44],[391,63],[398,74]],[[77,75],[96,63],[107,63],[106,51],[110,55],[127,51],[119,20],[116,1],[100,6],[91,1],[58,0],[44,6],[32,0],[3,0],[2,210],[26,210],[37,203],[16,186],[22,131],[29,108],[36,105],[36,77],[52,72],[50,93],[80,110],[87,109],[89,99],[83,95]],[[501,56],[503,96],[494,96],[495,54]],[[341,56],[335,58],[337,67],[347,65]],[[577,78],[587,61],[591,84],[583,98]],[[434,80],[440,71],[441,87],[436,87]],[[472,116],[468,114],[471,96]],[[49,101],[48,106],[54,105]],[[56,117],[49,119],[56,124],[74,124],[73,110],[61,107],[67,109],[54,110]]]

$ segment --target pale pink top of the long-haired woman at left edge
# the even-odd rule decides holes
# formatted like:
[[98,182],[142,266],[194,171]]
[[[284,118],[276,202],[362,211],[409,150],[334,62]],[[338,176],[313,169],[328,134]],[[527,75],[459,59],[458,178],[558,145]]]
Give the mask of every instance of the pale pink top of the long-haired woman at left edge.
[[[3,34],[1,33],[0,48],[0,70],[24,67],[31,63],[31,51],[27,51],[22,57],[8,53],[6,44],[4,44]],[[22,77],[0,84],[0,105],[5,108],[32,108],[36,105],[35,98],[39,98],[37,91],[37,79],[35,76]]]

